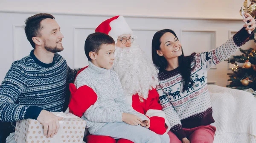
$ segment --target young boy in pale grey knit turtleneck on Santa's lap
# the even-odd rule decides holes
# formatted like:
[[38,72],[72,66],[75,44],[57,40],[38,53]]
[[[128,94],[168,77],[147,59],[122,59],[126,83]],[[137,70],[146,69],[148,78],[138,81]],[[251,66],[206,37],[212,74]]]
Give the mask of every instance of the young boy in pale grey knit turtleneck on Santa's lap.
[[[87,122],[90,134],[124,138],[134,143],[163,143],[160,135],[148,129],[149,119],[126,102],[119,76],[111,70],[115,51],[111,36],[90,34],[84,51],[89,66],[76,77],[75,86],[80,94],[73,94],[70,104],[84,101],[87,105],[82,119]],[[70,110],[81,111],[79,107],[84,105],[73,104]],[[169,137],[165,143],[169,143]]]

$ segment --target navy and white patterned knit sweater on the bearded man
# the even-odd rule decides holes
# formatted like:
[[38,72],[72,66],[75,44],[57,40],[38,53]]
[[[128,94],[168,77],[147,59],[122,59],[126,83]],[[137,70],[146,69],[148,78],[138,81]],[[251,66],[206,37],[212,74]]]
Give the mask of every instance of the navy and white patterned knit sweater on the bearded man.
[[12,122],[14,128],[16,121],[36,119],[43,109],[60,112],[66,82],[73,83],[77,71],[57,53],[50,64],[39,61],[34,50],[13,62],[0,86],[0,121]]

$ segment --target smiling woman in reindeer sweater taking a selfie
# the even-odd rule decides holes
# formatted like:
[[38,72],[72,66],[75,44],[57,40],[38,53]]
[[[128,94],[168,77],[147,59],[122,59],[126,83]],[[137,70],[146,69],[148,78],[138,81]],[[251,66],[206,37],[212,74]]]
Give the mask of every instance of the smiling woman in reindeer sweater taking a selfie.
[[216,128],[210,125],[214,119],[207,90],[207,71],[229,58],[251,35],[247,30],[254,30],[255,20],[250,14],[245,15],[244,21],[250,22],[226,43],[186,57],[174,31],[163,29],[154,34],[152,59],[159,68],[157,92],[171,124],[170,143],[213,142]]

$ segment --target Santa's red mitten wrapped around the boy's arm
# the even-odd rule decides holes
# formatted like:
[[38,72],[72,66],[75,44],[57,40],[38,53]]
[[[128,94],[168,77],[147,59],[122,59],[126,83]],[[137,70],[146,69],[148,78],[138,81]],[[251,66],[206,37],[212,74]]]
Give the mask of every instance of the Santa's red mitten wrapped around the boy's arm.
[[92,88],[87,85],[76,89],[74,84],[70,84],[71,100],[68,107],[70,112],[78,117],[82,117],[84,112],[97,101],[97,95]]

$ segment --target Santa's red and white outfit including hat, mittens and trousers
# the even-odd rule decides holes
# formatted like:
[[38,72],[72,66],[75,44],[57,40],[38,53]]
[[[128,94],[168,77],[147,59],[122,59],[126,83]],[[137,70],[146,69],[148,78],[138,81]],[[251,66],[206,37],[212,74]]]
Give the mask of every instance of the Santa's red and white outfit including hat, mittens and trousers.
[[[96,32],[109,34],[113,39],[122,34],[131,34],[131,29],[124,17],[116,16],[102,22]],[[77,75],[87,67],[81,69]],[[74,115],[81,117],[83,113],[97,100],[97,95],[88,90],[86,86],[76,89],[74,84],[70,84],[70,104],[69,109]],[[159,95],[156,89],[148,91],[148,98],[141,100],[138,94],[127,96],[128,103],[137,111],[150,119],[149,129],[159,135],[169,132],[170,124],[167,121],[161,105],[158,103]],[[108,136],[87,135],[86,143],[116,143],[116,140]],[[117,143],[133,143],[130,140],[119,139]]]

